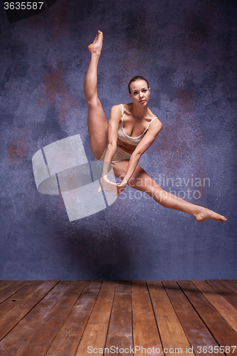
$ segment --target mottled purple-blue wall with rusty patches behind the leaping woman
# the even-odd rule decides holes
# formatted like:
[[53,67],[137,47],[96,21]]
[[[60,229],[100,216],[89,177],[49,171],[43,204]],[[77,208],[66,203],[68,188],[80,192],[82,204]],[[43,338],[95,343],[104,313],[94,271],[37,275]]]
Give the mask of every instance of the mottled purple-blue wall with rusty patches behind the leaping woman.
[[[0,3],[1,279],[237,278],[236,24],[233,0],[57,0],[14,23]],[[133,75],[147,78],[163,129],[140,165],[226,223],[197,223],[130,187],[70,222],[62,197],[38,193],[42,147],[80,133],[93,159],[83,80],[98,29],[106,117],[130,102]]]

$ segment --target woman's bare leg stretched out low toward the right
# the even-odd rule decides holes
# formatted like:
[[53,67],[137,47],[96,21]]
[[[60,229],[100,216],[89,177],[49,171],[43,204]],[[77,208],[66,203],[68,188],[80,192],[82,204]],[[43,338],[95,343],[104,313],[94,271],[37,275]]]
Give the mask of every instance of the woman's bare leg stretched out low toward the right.
[[[115,162],[112,167],[115,172],[115,176],[122,179],[125,176],[127,170],[128,161]],[[226,221],[225,216],[215,213],[212,210],[206,209],[202,206],[191,204],[174,194],[164,191],[157,182],[149,177],[147,172],[141,167],[137,166],[134,174],[130,178],[128,184],[130,187],[146,192],[152,197],[157,203],[165,206],[166,208],[175,209],[179,211],[184,211],[185,213],[194,215],[197,221],[204,221],[207,219]]]

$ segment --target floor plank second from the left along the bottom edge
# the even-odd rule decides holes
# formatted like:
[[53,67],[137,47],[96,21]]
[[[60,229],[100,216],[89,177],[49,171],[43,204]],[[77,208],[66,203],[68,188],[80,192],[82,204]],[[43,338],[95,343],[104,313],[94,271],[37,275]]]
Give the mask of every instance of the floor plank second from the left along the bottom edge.
[[43,319],[41,325],[21,347],[17,356],[45,355],[54,337],[65,322],[70,310],[78,300],[80,293],[85,288],[87,281],[74,281],[53,310]]

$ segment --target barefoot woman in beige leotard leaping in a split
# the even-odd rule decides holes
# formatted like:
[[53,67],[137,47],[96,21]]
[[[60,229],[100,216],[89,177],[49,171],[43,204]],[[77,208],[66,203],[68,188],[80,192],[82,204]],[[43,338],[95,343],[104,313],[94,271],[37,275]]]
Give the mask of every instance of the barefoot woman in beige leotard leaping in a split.
[[[162,130],[162,122],[147,108],[150,95],[147,80],[139,76],[132,78],[129,84],[132,103],[113,106],[107,123],[97,93],[97,68],[102,50],[101,31],[98,31],[88,50],[91,58],[84,83],[85,100],[88,104],[88,133],[91,152],[96,159],[104,161],[102,186],[107,191],[113,190],[120,194],[128,184],[146,192],[162,206],[194,215],[197,221],[226,221],[225,216],[165,192],[139,167],[139,157]],[[115,176],[122,180],[121,183],[115,184],[107,179],[110,163]],[[101,186],[99,192],[100,190]]]

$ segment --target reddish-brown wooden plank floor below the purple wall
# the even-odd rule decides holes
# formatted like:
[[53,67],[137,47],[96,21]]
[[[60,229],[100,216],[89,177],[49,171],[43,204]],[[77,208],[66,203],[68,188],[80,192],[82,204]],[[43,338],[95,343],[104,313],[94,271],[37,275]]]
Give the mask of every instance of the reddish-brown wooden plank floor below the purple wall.
[[0,281],[0,355],[237,355],[237,281]]

